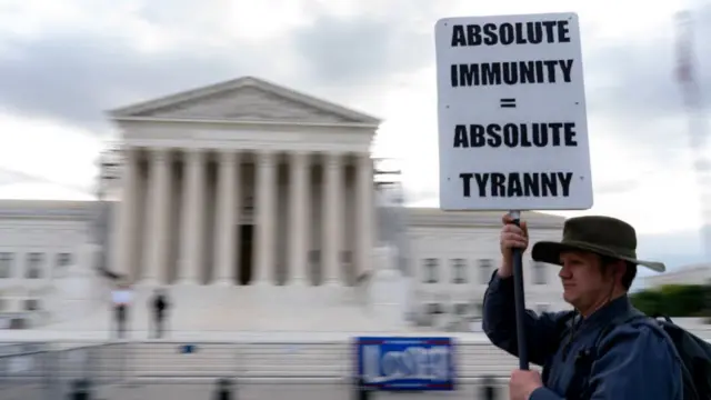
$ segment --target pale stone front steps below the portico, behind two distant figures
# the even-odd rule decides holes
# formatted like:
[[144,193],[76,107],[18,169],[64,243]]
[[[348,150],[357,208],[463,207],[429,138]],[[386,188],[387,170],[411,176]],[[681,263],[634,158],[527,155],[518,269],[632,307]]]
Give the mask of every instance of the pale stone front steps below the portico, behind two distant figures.
[[[150,329],[153,289],[138,286],[129,310],[129,330]],[[106,293],[110,296],[109,292]],[[407,331],[384,321],[358,299],[354,288],[209,287],[168,289],[170,331],[203,332],[380,332]],[[90,312],[44,327],[51,331],[103,331],[111,328],[111,306],[100,302]],[[143,338],[146,338],[143,336]]]

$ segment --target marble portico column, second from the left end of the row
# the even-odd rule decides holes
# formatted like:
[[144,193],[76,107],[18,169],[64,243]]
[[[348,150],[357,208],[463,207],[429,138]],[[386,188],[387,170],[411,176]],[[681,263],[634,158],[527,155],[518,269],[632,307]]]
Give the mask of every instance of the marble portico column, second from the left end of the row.
[[143,281],[148,284],[163,282],[167,274],[168,213],[170,212],[170,152],[152,149],[149,152],[149,213],[147,216],[148,248],[143,270]]

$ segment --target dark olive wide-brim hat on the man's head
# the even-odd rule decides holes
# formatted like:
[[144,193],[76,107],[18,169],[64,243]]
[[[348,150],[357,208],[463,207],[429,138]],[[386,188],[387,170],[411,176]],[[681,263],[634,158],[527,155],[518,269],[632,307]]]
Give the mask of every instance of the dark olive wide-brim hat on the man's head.
[[577,217],[565,221],[563,239],[559,242],[540,241],[533,246],[534,261],[561,266],[564,251],[590,251],[664,272],[662,262],[638,260],[637,232],[631,224],[611,217]]

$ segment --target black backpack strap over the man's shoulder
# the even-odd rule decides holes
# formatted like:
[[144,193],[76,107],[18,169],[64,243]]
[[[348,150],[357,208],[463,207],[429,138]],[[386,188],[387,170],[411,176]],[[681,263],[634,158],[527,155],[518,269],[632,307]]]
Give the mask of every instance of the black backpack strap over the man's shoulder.
[[574,373],[568,384],[568,390],[565,390],[565,399],[587,400],[592,397],[592,393],[590,392],[590,378],[592,374],[592,363],[595,362],[599,357],[598,350],[600,348],[600,343],[615,328],[642,318],[649,317],[634,310],[630,313],[612,319],[600,330],[592,347],[582,349],[578,354],[575,354],[575,364],[573,367]]

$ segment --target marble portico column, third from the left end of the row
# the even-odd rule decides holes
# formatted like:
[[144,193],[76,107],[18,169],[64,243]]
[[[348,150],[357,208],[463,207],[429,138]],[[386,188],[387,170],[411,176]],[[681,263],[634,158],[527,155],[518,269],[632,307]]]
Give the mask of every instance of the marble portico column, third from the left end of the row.
[[204,152],[200,149],[188,149],[186,158],[178,282],[194,284],[198,283],[200,270],[203,267]]

